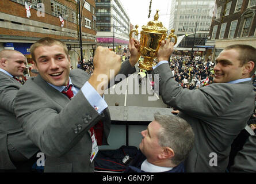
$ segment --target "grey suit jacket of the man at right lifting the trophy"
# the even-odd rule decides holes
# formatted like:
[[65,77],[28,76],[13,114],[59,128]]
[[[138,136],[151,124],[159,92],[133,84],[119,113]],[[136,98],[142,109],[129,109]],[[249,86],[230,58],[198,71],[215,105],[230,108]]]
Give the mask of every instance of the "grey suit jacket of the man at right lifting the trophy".
[[[188,121],[194,131],[195,143],[185,160],[186,171],[224,172],[232,141],[254,110],[251,81],[213,83],[199,90],[188,90],[175,82],[169,64],[161,64],[154,72],[159,74],[163,101],[180,110],[178,116]],[[215,154],[217,166],[213,160],[216,157],[212,156]]]

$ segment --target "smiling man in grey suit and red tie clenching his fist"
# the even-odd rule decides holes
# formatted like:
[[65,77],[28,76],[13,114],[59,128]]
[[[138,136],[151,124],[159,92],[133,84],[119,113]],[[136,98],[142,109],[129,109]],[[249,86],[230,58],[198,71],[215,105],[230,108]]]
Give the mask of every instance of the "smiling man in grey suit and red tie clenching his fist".
[[[100,141],[95,138],[102,136],[101,143],[106,145],[110,131],[110,114],[102,94],[118,72],[128,76],[136,71],[139,52],[133,40],[130,43],[131,58],[123,64],[120,56],[98,47],[92,76],[80,69],[70,71],[67,46],[59,40],[44,38],[30,47],[39,75],[18,92],[15,112],[26,135],[45,154],[45,172],[94,171]],[[98,135],[93,127],[100,122],[103,128]]]

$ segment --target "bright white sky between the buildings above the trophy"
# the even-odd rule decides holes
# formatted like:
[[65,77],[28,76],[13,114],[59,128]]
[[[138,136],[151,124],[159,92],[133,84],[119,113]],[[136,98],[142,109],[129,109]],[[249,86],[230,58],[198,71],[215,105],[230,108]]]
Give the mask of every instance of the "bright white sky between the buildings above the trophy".
[[152,0],[151,14],[148,18],[150,0],[119,0],[130,18],[132,25],[139,25],[139,32],[148,21],[154,20],[156,9],[159,11],[159,19],[169,29],[170,6],[173,0]]

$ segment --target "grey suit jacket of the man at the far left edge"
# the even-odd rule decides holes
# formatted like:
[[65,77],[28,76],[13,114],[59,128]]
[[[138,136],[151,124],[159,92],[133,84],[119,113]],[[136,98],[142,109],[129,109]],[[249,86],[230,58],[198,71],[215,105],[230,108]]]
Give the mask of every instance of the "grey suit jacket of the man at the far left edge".
[[39,151],[29,140],[14,114],[14,98],[21,83],[0,71],[0,169],[16,169],[10,160],[7,144],[29,159]]

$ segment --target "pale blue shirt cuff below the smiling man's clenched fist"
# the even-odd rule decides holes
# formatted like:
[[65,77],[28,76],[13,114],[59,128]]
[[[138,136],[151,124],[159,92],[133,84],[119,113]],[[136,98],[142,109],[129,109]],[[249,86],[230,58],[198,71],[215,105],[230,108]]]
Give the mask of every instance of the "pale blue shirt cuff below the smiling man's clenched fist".
[[108,108],[108,105],[104,101],[104,99],[101,97],[100,94],[93,88],[93,86],[90,85],[90,83],[87,81],[85,85],[81,88],[83,95],[89,102],[89,104],[99,113],[101,114],[102,111],[104,111],[106,108]]

